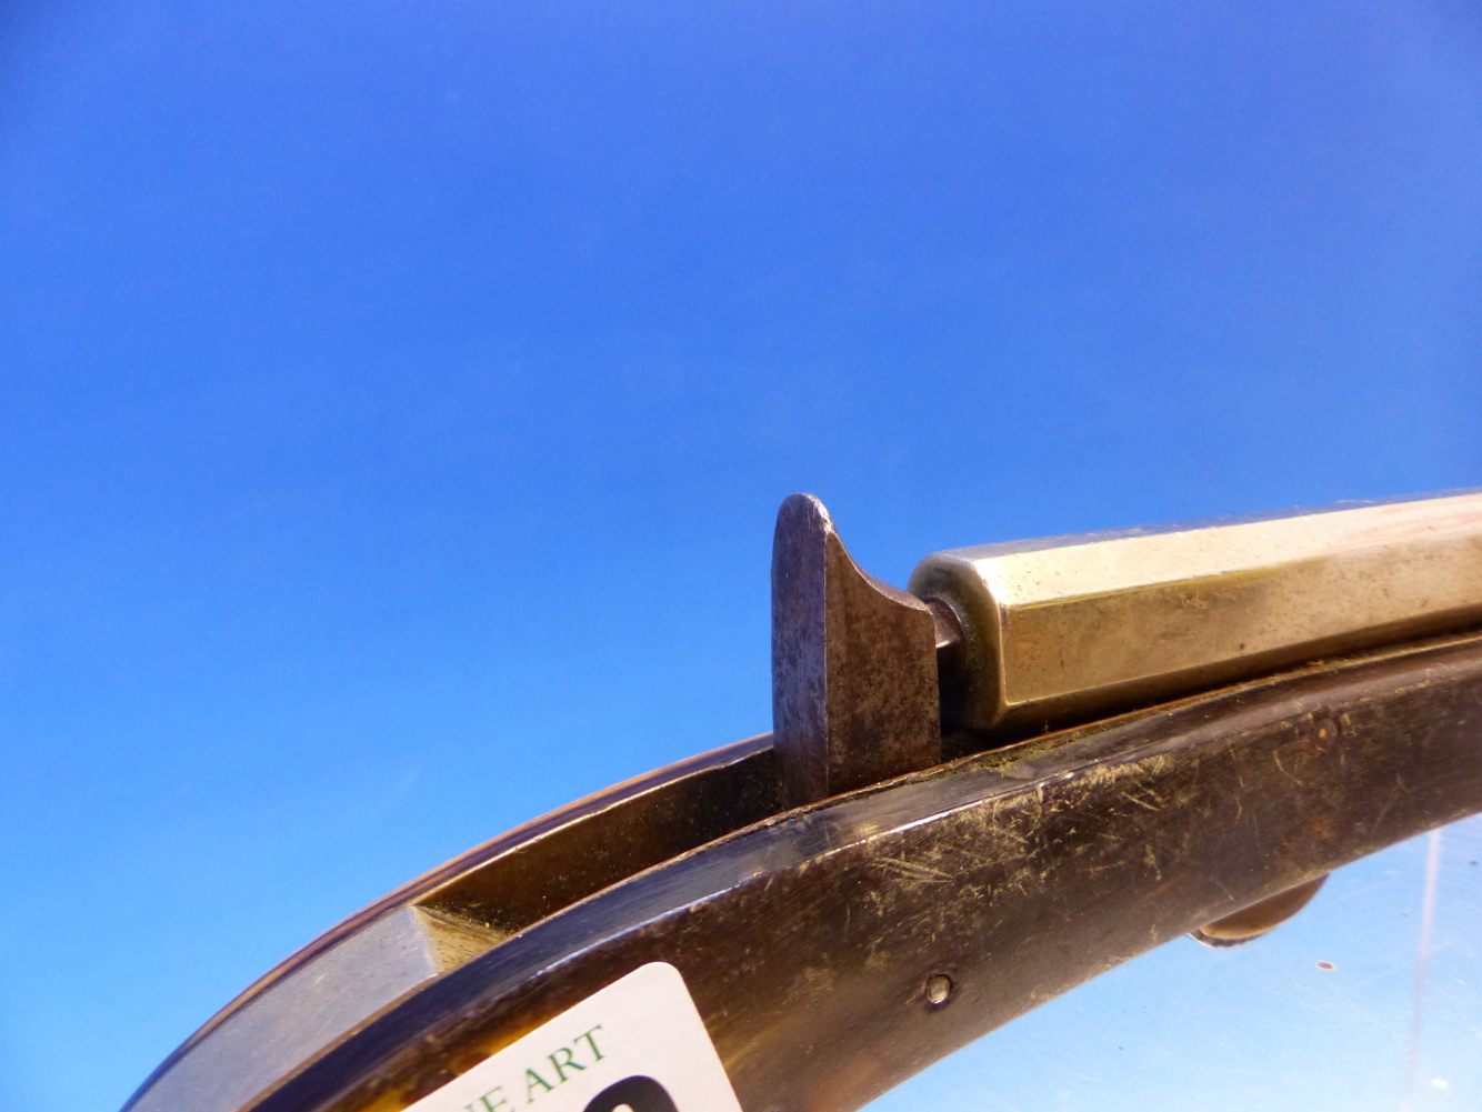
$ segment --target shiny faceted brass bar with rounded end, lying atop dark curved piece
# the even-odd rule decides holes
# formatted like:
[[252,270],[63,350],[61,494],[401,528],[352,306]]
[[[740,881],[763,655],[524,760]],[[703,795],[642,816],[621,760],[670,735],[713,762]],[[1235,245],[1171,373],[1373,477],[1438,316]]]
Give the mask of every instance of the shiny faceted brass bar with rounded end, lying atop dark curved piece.
[[1482,492],[953,549],[910,590],[966,632],[956,725],[1024,735],[1482,623]]

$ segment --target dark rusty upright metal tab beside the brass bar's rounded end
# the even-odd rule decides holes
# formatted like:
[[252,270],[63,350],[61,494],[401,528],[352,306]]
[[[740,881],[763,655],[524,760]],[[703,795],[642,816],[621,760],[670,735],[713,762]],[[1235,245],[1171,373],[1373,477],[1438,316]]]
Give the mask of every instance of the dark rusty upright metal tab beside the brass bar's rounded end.
[[937,618],[794,494],[772,540],[772,731],[785,807],[941,764]]

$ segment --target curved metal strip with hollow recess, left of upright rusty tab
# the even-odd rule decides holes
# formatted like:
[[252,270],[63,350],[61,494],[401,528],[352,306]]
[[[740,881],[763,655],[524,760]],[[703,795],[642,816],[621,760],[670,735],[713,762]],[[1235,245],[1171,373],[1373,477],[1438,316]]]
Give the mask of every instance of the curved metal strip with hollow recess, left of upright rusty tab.
[[221,1010],[132,1112],[228,1112],[396,1001],[652,864],[777,814],[771,735],[609,787],[510,830],[326,931]]

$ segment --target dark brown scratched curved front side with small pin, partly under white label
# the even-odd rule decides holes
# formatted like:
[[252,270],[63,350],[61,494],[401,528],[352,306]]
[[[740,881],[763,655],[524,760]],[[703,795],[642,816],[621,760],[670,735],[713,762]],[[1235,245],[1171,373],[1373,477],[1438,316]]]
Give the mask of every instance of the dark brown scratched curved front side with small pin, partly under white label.
[[1482,638],[1467,636],[963,758],[619,881],[255,1099],[182,1091],[173,1108],[397,1112],[665,961],[742,1108],[846,1112],[1200,924],[1482,811],[1479,722]]

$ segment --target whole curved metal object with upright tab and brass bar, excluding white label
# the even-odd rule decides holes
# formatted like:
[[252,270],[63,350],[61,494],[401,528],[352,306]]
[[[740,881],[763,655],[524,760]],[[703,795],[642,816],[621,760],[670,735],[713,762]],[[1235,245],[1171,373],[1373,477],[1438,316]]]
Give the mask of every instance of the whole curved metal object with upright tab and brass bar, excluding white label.
[[[1152,946],[1258,937],[1331,869],[1482,811],[1482,635],[1249,678],[1482,618],[1482,495],[940,553],[913,589],[794,495],[775,743],[391,893],[129,1109],[400,1112],[664,961],[742,1108],[846,1112]],[[1103,721],[1014,740],[1067,718]],[[943,721],[968,753],[947,764]]]

